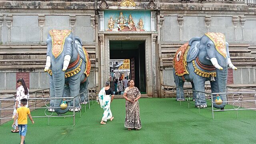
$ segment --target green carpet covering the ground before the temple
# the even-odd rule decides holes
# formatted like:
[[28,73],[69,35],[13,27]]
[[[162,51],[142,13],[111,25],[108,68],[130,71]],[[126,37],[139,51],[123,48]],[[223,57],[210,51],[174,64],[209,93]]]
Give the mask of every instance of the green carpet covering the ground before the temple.
[[[112,122],[100,125],[103,110],[94,103],[82,117],[34,118],[28,122],[26,144],[253,144],[256,142],[256,111],[215,112],[180,103],[173,98],[142,98],[140,118],[142,129],[128,131],[124,128],[124,99],[111,104],[115,117]],[[210,104],[208,104],[210,106]],[[87,106],[88,107],[88,106]],[[226,106],[225,108],[231,106]],[[44,114],[43,109],[34,110],[32,116]],[[70,113],[69,113],[70,114]],[[0,126],[0,144],[18,144],[20,136],[11,133],[12,122]]]

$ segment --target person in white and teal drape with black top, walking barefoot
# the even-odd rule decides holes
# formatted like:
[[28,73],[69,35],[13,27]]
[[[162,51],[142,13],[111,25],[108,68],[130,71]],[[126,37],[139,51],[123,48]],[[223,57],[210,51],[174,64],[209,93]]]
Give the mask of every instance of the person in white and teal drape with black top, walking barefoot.
[[106,124],[108,119],[112,121],[114,118],[110,110],[110,103],[114,99],[114,93],[112,88],[110,88],[110,82],[106,82],[106,86],[100,90],[98,97],[100,101],[100,107],[104,110],[100,124]]

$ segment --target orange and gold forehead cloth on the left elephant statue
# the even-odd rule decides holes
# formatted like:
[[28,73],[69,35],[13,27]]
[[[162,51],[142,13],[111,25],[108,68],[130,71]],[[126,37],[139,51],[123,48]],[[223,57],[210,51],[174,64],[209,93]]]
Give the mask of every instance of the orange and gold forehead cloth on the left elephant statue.
[[52,37],[52,54],[55,58],[62,53],[65,39],[70,33],[70,30],[50,30],[49,34]]

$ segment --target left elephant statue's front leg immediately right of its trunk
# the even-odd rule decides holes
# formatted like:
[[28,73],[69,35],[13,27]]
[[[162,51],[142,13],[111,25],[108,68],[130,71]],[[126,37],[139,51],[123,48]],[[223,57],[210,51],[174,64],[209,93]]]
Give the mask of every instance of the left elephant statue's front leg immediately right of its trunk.
[[[69,88],[70,88],[70,97],[76,97],[79,94],[79,91],[80,91],[80,81],[74,80],[74,82],[69,82]],[[74,100],[75,100],[75,111],[79,111],[80,110],[80,106],[79,106],[80,98],[79,98],[79,96],[74,98]],[[71,106],[74,105],[73,100],[71,100],[70,105]],[[70,108],[70,111],[73,111],[73,108]]]

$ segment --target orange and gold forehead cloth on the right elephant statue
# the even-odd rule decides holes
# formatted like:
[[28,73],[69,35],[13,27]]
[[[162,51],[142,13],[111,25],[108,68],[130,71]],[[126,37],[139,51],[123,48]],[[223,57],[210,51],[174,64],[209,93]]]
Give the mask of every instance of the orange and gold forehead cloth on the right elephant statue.
[[216,50],[224,57],[227,56],[225,35],[219,32],[207,32],[205,34],[212,40]]

